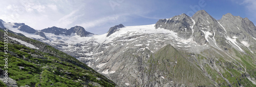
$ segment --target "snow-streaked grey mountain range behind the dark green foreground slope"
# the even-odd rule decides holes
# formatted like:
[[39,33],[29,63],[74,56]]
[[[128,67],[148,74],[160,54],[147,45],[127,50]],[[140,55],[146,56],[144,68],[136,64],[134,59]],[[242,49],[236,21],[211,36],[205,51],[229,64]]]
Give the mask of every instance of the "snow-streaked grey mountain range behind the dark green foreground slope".
[[118,86],[256,86],[256,26],[230,13],[220,20],[200,10],[150,25],[119,24],[103,35],[1,21],[1,28],[76,57]]

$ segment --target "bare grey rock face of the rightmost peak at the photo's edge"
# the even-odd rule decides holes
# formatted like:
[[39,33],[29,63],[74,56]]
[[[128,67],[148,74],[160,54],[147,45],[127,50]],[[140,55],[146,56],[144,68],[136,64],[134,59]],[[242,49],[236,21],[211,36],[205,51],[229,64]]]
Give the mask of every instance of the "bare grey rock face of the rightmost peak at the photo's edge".
[[245,41],[248,45],[251,45],[251,49],[255,49],[252,45],[255,44],[256,27],[248,18],[227,13],[223,15],[220,23],[225,27],[228,37],[240,42]]

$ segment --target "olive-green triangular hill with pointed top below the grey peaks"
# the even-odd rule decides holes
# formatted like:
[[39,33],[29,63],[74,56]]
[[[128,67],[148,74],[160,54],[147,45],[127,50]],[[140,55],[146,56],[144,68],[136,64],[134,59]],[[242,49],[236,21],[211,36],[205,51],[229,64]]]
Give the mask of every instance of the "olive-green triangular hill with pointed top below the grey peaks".
[[164,46],[148,61],[150,63],[148,72],[154,74],[154,72],[162,71],[166,79],[172,79],[179,84],[213,86],[214,83],[204,76],[196,65],[190,63],[183,54],[172,45]]

